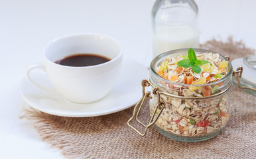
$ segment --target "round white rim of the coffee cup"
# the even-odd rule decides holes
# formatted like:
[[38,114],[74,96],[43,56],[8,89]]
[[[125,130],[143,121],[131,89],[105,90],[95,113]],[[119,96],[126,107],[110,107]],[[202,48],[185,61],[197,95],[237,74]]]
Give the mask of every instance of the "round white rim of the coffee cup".
[[[94,66],[65,66],[65,65],[60,65],[60,64],[56,64],[55,62],[52,62],[51,60],[49,60],[48,58],[46,58],[46,54],[45,54],[45,50],[46,48],[48,48],[52,43],[58,41],[58,40],[61,40],[63,38],[69,38],[69,37],[74,37],[74,36],[90,36],[90,35],[96,35],[96,36],[104,36],[106,38],[109,38],[113,41],[115,41],[119,47],[120,47],[120,52],[119,54],[109,60],[108,62],[104,62],[102,64],[97,64],[97,65],[94,65]],[[58,38],[54,38],[54,40],[48,42],[48,44],[46,44],[46,46],[44,46],[44,49],[43,49],[43,57],[44,57],[44,60],[46,60],[47,62],[50,62],[56,66],[59,66],[59,67],[64,67],[64,68],[74,68],[74,69],[81,69],[81,68],[97,68],[97,67],[100,67],[100,66],[104,66],[106,64],[109,64],[109,63],[113,63],[114,61],[116,61],[117,59],[121,58],[121,56],[123,56],[123,46],[121,45],[121,42],[119,42],[117,39],[113,38],[112,36],[109,36],[109,35],[106,35],[106,34],[99,34],[99,33],[93,33],[93,32],[90,32],[90,33],[75,33],[75,34],[66,34],[64,36],[60,36]]]

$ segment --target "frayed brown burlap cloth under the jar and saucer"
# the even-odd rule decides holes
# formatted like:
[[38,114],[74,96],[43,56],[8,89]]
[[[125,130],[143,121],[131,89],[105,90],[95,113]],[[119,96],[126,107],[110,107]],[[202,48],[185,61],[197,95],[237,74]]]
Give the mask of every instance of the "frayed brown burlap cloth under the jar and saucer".
[[[201,46],[231,58],[253,54],[242,42],[210,40]],[[142,137],[127,126],[133,107],[101,117],[58,117],[26,109],[42,140],[66,158],[256,158],[256,97],[235,86],[230,93],[231,115],[218,136],[204,142],[178,142],[151,127]],[[140,119],[147,121],[145,107]]]

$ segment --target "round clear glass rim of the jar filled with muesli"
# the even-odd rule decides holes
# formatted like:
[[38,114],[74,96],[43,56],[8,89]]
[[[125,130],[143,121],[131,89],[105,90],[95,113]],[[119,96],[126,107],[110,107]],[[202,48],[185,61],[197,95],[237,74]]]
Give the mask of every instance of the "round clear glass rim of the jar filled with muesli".
[[[206,50],[206,49],[202,49],[202,48],[193,48],[193,49],[194,49],[195,52],[196,52],[196,51],[200,51],[200,52],[204,51],[204,52],[210,52],[210,53],[217,54],[217,52],[213,52],[213,51],[211,51],[211,50]],[[182,86],[184,86],[184,87],[189,87],[189,86],[195,86],[195,87],[200,86],[200,87],[204,87],[204,86],[208,86],[208,85],[216,85],[216,84],[218,84],[218,83],[220,83],[220,82],[222,82],[222,81],[225,81],[225,80],[228,79],[230,76],[232,76],[232,74],[233,74],[233,67],[232,67],[232,65],[231,65],[231,62],[230,62],[229,60],[227,60],[227,58],[225,58],[224,56],[222,56],[222,54],[220,54],[220,53],[218,53],[218,54],[219,54],[222,58],[224,58],[224,60],[227,60],[227,62],[228,62],[229,72],[227,72],[227,75],[224,76],[224,78],[222,78],[222,79],[220,79],[220,80],[218,80],[218,81],[214,81],[214,82],[212,82],[212,83],[206,83],[206,84],[203,84],[203,85],[188,85],[188,84],[183,84],[183,83],[176,83],[176,82],[174,82],[174,81],[170,81],[170,80],[168,80],[168,79],[162,78],[161,76],[159,76],[159,74],[157,74],[157,72],[156,72],[155,69],[153,68],[153,66],[155,66],[156,62],[158,62],[160,59],[162,59],[163,56],[167,56],[167,55],[175,54],[175,53],[179,53],[179,52],[184,52],[184,51],[188,51],[188,50],[189,50],[189,48],[181,48],[181,49],[176,49],[176,50],[170,50],[170,51],[168,51],[168,52],[164,52],[164,53],[160,54],[159,56],[156,56],[156,57],[152,60],[152,62],[151,62],[150,70],[151,70],[151,71],[153,72],[153,74],[154,74],[155,76],[157,76],[158,78],[160,78],[160,79],[162,79],[162,80],[164,80],[164,81],[166,81],[166,82],[168,82],[168,83],[172,83],[172,84],[176,84],[176,85],[182,85]]]

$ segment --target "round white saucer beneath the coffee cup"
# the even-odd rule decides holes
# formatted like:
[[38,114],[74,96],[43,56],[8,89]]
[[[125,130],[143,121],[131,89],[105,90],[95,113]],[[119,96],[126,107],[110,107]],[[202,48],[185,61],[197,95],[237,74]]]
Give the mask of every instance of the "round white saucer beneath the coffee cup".
[[[36,75],[38,83],[52,87],[44,77]],[[40,77],[38,77],[40,76]],[[32,85],[26,78],[21,82],[21,95],[34,109],[63,117],[95,117],[127,109],[142,96],[141,80],[149,79],[149,70],[133,60],[123,61],[122,71],[110,93],[94,103],[72,103],[57,93],[50,93]]]

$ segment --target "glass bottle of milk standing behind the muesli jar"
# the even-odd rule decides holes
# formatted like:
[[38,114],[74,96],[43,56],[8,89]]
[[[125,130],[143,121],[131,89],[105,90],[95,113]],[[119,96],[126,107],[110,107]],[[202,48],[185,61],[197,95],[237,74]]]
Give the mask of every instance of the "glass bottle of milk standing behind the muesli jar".
[[153,56],[198,48],[198,7],[194,0],[157,0],[152,9]]

